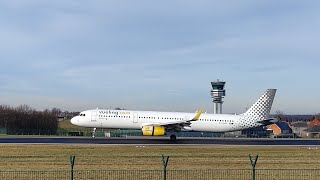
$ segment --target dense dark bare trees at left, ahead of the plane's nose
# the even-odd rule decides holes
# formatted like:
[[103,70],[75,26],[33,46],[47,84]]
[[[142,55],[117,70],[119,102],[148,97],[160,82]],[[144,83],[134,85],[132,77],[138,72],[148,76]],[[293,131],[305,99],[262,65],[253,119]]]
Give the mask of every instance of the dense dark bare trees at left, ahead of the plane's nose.
[[28,105],[0,105],[0,128],[6,129],[7,134],[56,134],[58,119],[55,110],[37,111]]

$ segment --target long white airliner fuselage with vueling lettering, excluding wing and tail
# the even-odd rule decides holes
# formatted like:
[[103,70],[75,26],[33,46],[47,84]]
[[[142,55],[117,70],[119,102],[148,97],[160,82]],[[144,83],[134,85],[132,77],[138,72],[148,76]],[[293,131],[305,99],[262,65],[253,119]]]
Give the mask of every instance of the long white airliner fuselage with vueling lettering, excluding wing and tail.
[[[127,110],[88,110],[71,120],[72,124],[92,128],[141,129],[148,124],[192,119],[197,113],[158,112],[158,111],[127,111]],[[242,115],[201,114],[199,120],[184,126],[183,131],[228,132],[245,129],[240,124]]]

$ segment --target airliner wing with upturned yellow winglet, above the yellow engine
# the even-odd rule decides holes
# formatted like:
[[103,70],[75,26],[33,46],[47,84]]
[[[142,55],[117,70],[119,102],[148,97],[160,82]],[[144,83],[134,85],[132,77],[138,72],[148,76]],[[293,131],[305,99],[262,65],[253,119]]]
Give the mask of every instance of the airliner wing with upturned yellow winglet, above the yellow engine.
[[167,122],[163,122],[163,123],[152,123],[152,124],[147,124],[147,125],[163,126],[167,130],[181,131],[184,129],[184,127],[190,126],[192,121],[198,121],[201,114],[202,114],[202,111],[198,111],[196,116],[190,120],[176,120],[176,121],[169,121],[169,122],[167,121]]

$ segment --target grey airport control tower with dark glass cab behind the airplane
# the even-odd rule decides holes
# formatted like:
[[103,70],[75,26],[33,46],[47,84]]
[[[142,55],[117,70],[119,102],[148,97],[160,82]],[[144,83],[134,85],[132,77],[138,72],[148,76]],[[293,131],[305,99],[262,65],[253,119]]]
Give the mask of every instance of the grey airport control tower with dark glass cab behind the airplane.
[[226,82],[224,81],[213,81],[211,82],[212,90],[211,97],[213,102],[213,113],[214,114],[222,114],[222,98],[226,95],[226,90],[224,89],[224,85]]

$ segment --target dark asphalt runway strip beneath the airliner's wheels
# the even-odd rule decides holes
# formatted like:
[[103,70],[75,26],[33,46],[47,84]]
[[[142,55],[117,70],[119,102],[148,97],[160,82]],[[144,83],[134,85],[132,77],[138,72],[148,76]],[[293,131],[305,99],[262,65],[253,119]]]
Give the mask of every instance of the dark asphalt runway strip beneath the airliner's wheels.
[[105,144],[105,145],[243,145],[243,146],[320,146],[314,139],[226,139],[178,138],[175,143],[160,138],[0,138],[0,144]]

